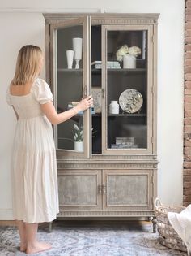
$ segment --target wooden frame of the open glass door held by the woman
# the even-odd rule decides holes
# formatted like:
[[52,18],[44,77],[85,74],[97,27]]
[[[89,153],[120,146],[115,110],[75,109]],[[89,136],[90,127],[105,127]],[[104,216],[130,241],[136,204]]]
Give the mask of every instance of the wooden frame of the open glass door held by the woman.
[[[57,110],[57,28],[68,28],[74,25],[82,24],[83,26],[83,97],[91,93],[91,18],[83,16],[71,20],[60,21],[50,24],[50,83],[53,89],[54,106]],[[80,99],[79,99],[80,100]],[[54,141],[56,149],[62,151],[65,156],[80,156],[91,158],[91,110],[87,109],[83,113],[83,152],[79,153],[74,150],[64,150],[57,148],[57,125],[53,128]]]

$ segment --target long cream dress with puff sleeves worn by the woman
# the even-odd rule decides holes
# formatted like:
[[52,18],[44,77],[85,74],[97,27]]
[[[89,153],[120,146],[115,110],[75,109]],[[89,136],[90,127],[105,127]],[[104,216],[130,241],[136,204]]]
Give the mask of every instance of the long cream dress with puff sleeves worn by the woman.
[[37,78],[27,95],[11,95],[8,88],[6,101],[19,115],[11,160],[14,219],[50,222],[58,213],[57,163],[53,129],[40,104],[53,101],[53,94]]

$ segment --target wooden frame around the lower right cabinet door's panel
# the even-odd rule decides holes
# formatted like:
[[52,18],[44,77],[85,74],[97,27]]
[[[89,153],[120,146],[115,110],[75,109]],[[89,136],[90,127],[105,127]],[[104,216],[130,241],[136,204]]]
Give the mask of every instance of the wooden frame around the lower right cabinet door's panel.
[[[142,169],[136,169],[136,170],[103,170],[103,185],[104,185],[104,191],[103,193],[103,210],[153,210],[153,197],[155,193],[154,188],[154,170],[142,170]],[[127,206],[120,206],[120,205],[108,205],[107,202],[107,193],[108,193],[108,182],[107,177],[108,176],[147,176],[147,204],[144,205],[138,205],[138,204],[131,204]]]

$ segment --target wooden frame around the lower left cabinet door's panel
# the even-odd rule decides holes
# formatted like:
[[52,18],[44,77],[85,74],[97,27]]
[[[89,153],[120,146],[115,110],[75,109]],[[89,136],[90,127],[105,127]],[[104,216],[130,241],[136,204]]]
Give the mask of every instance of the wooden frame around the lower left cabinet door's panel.
[[[58,170],[58,190],[59,190],[59,177],[61,176],[96,176],[97,184],[96,184],[96,205],[61,205],[59,204],[60,210],[102,210],[102,193],[99,188],[101,188],[102,184],[102,171],[101,170]],[[74,188],[76,189],[76,188]]]

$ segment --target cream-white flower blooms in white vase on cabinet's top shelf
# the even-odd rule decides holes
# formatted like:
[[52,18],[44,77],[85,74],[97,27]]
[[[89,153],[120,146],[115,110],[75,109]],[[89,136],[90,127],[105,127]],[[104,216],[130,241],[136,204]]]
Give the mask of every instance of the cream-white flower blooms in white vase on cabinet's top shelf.
[[128,47],[127,45],[121,46],[120,49],[117,50],[116,56],[118,61],[123,60],[123,56],[125,54],[133,55],[134,57],[138,57],[142,53],[142,50],[138,46]]

